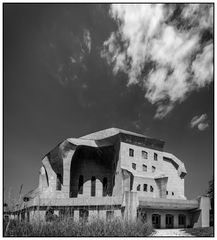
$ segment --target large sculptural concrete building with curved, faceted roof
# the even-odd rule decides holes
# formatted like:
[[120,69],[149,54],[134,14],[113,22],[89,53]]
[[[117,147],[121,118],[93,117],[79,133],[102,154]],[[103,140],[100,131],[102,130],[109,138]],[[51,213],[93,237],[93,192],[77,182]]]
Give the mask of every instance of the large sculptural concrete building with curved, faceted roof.
[[38,188],[23,197],[14,218],[75,221],[140,218],[154,228],[209,226],[207,196],[187,200],[184,163],[164,142],[109,128],[68,138],[42,160]]

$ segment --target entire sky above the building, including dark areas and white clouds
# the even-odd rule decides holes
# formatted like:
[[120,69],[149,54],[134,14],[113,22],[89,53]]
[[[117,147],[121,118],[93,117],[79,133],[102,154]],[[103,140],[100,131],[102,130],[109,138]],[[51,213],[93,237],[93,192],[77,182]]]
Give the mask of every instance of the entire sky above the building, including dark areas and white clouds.
[[[164,140],[193,199],[213,178],[213,5],[4,4],[4,198],[58,143],[110,127]],[[22,189],[21,189],[22,186]]]

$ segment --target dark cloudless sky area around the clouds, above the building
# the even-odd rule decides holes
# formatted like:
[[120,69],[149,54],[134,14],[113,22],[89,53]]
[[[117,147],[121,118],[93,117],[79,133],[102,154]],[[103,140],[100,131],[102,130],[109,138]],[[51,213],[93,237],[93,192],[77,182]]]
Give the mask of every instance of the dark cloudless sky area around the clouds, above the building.
[[[186,166],[185,193],[213,177],[213,82],[190,92],[162,119],[140,84],[127,85],[101,56],[118,28],[100,4],[4,4],[4,193],[38,184],[42,157],[62,140],[109,128],[166,142]],[[85,37],[86,36],[86,37]],[[88,36],[91,45],[88,45]],[[86,39],[86,40],[85,40]],[[206,114],[208,127],[192,128]]]

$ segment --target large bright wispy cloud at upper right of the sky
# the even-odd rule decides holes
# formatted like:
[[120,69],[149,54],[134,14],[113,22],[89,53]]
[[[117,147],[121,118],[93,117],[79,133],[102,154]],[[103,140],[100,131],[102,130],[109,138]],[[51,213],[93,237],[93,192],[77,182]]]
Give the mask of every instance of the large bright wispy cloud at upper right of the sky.
[[140,84],[165,117],[188,94],[213,80],[213,7],[209,4],[113,4],[118,30],[101,56],[113,72]]

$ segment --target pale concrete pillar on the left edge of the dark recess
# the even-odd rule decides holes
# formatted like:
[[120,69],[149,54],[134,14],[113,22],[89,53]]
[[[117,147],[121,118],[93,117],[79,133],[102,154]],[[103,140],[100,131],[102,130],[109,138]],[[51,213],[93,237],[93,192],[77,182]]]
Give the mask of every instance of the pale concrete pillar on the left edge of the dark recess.
[[67,153],[67,156],[63,159],[63,188],[62,192],[66,198],[69,198],[70,194],[70,170],[71,170],[71,161],[75,153],[75,150],[70,150]]

